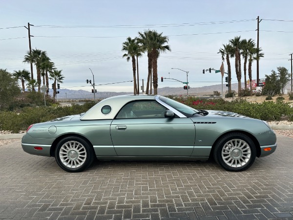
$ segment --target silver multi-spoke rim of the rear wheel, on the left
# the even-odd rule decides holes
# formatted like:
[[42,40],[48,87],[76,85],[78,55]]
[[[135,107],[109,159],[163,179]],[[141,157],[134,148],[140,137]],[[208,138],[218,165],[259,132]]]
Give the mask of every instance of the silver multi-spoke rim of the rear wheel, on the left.
[[86,160],[84,145],[78,141],[67,141],[60,148],[59,157],[68,168],[81,167]]

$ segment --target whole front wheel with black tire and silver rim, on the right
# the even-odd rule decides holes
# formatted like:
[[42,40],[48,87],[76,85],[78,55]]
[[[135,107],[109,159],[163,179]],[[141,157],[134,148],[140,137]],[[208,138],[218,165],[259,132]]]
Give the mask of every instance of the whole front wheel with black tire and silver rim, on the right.
[[215,161],[227,171],[244,171],[253,164],[256,148],[249,136],[234,132],[218,140],[213,156]]

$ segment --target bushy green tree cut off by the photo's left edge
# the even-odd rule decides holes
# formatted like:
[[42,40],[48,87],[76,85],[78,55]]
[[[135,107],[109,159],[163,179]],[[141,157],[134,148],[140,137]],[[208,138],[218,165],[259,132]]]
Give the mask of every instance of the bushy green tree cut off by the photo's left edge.
[[0,110],[8,109],[20,93],[18,78],[13,77],[6,69],[0,69]]

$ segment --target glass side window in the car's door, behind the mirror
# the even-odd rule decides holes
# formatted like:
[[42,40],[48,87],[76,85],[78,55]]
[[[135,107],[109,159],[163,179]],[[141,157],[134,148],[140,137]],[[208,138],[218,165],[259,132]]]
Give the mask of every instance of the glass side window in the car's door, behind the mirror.
[[164,118],[165,110],[156,101],[137,101],[126,104],[116,118]]

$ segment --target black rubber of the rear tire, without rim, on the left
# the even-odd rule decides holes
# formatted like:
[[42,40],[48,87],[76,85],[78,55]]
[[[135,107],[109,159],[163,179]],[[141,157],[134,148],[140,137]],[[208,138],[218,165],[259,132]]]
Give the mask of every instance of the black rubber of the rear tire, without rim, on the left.
[[[84,161],[84,164],[78,168],[68,168],[66,167],[60,160],[60,156],[59,156],[59,152],[61,147],[63,146],[64,143],[68,142],[68,141],[77,141],[79,143],[81,143],[86,151],[86,159]],[[76,137],[76,136],[69,136],[69,137],[65,137],[62,140],[60,140],[56,146],[56,150],[55,150],[55,159],[57,164],[65,171],[67,172],[71,172],[71,173],[77,173],[77,172],[82,172],[84,171],[86,168],[88,168],[91,163],[93,162],[94,156],[93,156],[93,151],[91,146],[87,143],[87,141],[85,141],[83,138],[80,137]]]

